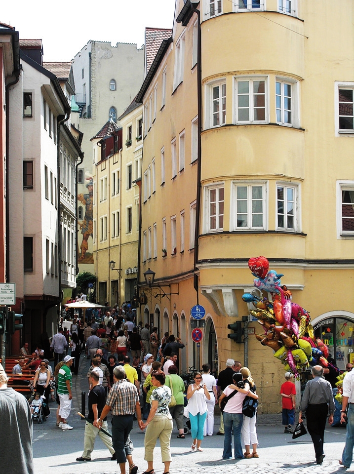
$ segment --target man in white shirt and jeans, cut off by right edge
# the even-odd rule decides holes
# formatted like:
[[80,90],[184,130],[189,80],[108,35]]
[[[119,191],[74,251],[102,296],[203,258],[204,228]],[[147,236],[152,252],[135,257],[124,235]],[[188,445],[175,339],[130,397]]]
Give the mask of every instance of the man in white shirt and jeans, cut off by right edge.
[[351,370],[343,379],[343,398],[341,423],[345,423],[346,410],[348,408],[348,424],[346,445],[343,449],[342,459],[339,461],[345,468],[350,468],[353,461],[354,445],[354,370]]

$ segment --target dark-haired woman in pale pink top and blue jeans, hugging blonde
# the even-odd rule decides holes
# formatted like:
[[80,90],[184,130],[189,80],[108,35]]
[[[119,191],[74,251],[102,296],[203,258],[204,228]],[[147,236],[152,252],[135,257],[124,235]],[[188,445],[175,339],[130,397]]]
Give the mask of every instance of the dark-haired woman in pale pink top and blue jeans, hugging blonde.
[[[223,459],[232,458],[232,431],[234,429],[235,459],[243,459],[241,444],[241,429],[243,422],[242,405],[246,395],[252,396],[249,383],[243,383],[242,374],[233,375],[233,384],[228,385],[219,397],[219,406],[223,410],[225,438]],[[257,396],[257,395],[256,395]],[[227,403],[223,406],[223,399],[227,397]]]

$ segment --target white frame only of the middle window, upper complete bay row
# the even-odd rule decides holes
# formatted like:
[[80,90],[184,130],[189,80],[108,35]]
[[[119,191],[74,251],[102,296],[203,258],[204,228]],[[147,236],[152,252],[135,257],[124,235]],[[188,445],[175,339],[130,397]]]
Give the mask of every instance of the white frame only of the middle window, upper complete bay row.
[[[264,80],[264,116],[265,116],[265,119],[264,120],[255,120],[254,119],[254,111],[255,111],[255,107],[251,107],[251,104],[254,103],[253,101],[253,97],[254,97],[254,93],[253,93],[253,83],[255,81],[258,81],[258,80]],[[249,94],[248,94],[248,97],[249,97],[249,102],[248,102],[248,110],[249,110],[249,119],[248,120],[239,120],[238,118],[238,89],[237,89],[237,84],[238,82],[246,82],[246,81],[249,81],[249,86],[252,86],[252,87],[249,87]],[[237,123],[237,124],[246,124],[246,123],[269,123],[269,95],[270,95],[270,91],[269,91],[269,77],[268,76],[236,76],[234,78],[234,92],[235,92],[235,105],[234,105],[234,123]],[[250,89],[252,89],[252,91],[250,92]],[[245,95],[245,94],[240,94],[240,95]],[[241,107],[241,109],[246,109],[246,107]]]

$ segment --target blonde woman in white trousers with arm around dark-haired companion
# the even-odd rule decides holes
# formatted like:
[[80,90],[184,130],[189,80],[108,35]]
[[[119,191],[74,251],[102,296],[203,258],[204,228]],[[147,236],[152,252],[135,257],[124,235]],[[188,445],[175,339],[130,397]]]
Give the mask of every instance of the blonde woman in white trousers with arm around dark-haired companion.
[[[242,367],[240,369],[240,374],[242,374],[243,377],[243,382],[248,383],[250,386],[250,392],[244,399],[244,403],[247,401],[247,397],[249,397],[249,394],[252,392],[253,395],[256,394],[256,384],[254,383],[254,380],[251,377],[251,372],[247,367]],[[252,397],[253,399],[258,399]],[[246,414],[243,414],[243,423],[242,423],[242,430],[241,430],[241,437],[243,440],[243,444],[245,447],[246,452],[244,453],[245,459],[250,459],[250,458],[258,458],[257,454],[257,446],[258,446],[258,438],[257,438],[257,432],[256,432],[256,419],[257,419],[257,407],[254,408],[253,410],[253,416],[249,417]],[[250,446],[252,444],[252,454],[250,453]]]

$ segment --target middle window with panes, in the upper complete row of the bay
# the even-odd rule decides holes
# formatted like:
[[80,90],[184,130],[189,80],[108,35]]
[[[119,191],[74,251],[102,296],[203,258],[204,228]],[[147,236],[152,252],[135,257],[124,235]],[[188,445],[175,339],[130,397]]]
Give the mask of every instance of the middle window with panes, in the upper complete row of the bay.
[[266,80],[236,80],[236,122],[266,122]]

